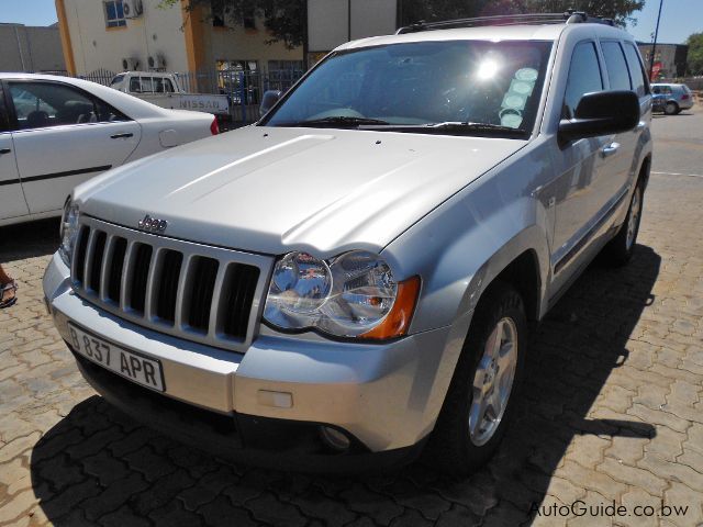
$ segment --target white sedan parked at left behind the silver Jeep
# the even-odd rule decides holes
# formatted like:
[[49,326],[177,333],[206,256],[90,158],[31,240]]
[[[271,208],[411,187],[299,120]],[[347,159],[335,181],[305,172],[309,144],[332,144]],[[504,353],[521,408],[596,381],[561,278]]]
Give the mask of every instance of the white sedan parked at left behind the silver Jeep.
[[210,113],[87,80],[0,74],[0,225],[58,216],[88,178],[217,133]]

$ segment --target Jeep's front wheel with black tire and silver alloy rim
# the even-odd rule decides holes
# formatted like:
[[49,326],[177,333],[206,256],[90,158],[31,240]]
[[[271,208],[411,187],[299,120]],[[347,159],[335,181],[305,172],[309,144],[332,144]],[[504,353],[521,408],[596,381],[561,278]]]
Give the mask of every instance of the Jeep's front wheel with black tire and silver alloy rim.
[[[494,338],[499,332],[502,334],[502,345],[496,345]],[[511,339],[512,351],[507,346]],[[511,285],[494,282],[479,302],[471,321],[449,390],[427,444],[425,460],[428,464],[443,472],[466,475],[491,458],[514,418],[526,351],[527,319],[523,299]],[[498,370],[491,369],[494,362],[491,355],[502,357],[498,363],[504,366],[503,373],[500,366]],[[486,373],[481,375],[479,370]],[[489,395],[487,380],[494,386],[493,397]],[[501,389],[501,384],[507,392]],[[486,396],[479,394],[478,386]],[[486,417],[477,419],[476,416],[481,415],[482,401],[489,402]],[[502,408],[502,412],[496,412],[498,419],[491,419],[492,412],[488,410],[494,405]]]

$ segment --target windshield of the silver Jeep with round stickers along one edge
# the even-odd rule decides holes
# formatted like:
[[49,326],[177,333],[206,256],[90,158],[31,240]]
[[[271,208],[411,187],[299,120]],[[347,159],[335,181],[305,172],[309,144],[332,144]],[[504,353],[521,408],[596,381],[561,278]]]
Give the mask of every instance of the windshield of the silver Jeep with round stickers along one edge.
[[550,48],[533,41],[446,41],[337,53],[261,124],[529,131]]

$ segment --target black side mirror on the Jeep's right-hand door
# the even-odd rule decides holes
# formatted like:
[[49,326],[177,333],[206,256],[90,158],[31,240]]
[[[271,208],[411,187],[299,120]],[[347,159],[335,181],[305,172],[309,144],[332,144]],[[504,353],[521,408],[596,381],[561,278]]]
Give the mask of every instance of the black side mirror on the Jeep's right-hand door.
[[634,91],[587,93],[576,108],[574,119],[559,122],[559,142],[620,134],[637,126],[639,99]]

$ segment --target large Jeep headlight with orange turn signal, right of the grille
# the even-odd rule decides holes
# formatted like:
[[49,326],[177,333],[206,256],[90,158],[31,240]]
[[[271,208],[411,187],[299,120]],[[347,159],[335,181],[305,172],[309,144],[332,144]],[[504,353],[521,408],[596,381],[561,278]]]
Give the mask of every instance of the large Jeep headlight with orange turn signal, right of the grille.
[[419,290],[417,278],[397,282],[372,253],[353,250],[328,261],[290,253],[276,264],[264,317],[282,329],[391,338],[408,330]]

